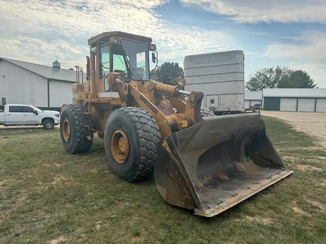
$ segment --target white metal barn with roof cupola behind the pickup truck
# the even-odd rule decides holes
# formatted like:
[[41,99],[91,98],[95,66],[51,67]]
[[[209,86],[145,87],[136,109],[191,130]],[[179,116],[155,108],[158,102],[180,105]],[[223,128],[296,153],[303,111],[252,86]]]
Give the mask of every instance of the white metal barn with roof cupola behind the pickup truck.
[[[85,79],[85,78],[84,78]],[[0,105],[32,104],[41,109],[59,109],[72,103],[76,72],[0,57]]]

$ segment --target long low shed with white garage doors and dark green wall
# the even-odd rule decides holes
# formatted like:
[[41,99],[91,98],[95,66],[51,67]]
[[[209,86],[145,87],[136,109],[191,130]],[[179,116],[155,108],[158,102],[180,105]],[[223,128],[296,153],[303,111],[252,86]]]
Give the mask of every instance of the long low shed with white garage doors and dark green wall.
[[264,110],[326,112],[326,89],[263,89]]

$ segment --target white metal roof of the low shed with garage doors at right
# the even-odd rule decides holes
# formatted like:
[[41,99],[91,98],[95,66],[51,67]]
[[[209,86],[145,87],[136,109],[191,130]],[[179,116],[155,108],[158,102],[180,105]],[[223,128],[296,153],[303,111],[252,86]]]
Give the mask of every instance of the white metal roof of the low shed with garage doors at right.
[[280,98],[326,98],[326,88],[263,89],[263,96]]

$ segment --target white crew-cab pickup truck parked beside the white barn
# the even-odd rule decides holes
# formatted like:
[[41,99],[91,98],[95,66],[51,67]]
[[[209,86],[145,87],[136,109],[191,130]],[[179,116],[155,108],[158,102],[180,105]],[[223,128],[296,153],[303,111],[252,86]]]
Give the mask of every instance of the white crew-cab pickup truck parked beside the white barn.
[[0,110],[0,125],[42,125],[44,129],[50,130],[60,123],[58,111],[41,110],[33,105],[7,104],[4,110]]

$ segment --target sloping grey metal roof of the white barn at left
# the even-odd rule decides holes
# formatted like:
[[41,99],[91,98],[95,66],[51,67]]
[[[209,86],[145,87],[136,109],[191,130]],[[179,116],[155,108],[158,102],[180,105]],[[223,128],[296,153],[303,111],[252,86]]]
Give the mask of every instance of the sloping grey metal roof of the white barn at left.
[[[1,59],[4,59],[23,69],[34,72],[47,79],[76,82],[76,71],[73,70],[65,70],[65,69],[54,68],[52,66],[38,65],[38,64],[23,62],[23,61],[5,58],[5,57],[0,57],[0,60]],[[84,75],[84,77],[86,77],[86,75]]]

